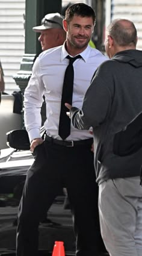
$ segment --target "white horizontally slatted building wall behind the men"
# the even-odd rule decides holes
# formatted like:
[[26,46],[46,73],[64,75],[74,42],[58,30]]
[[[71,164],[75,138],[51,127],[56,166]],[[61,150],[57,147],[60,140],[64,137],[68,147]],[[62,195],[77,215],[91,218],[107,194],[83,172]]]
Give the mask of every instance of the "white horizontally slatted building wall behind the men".
[[[75,3],[76,0],[63,0],[63,6]],[[91,5],[91,0],[82,0]],[[109,1],[106,1],[109,2]],[[138,31],[137,48],[142,49],[142,1],[141,0],[112,0],[111,19],[124,17],[135,23]],[[13,80],[20,69],[20,62],[25,52],[25,31],[23,28],[25,0],[0,0],[0,59],[4,69],[5,92],[19,90]]]

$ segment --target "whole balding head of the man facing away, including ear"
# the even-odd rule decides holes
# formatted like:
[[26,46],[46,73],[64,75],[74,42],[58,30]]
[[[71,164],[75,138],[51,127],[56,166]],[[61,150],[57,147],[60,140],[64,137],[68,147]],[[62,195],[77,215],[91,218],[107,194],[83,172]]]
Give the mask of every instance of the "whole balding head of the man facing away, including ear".
[[106,28],[105,49],[109,57],[118,51],[135,49],[137,45],[137,30],[131,20],[115,19]]

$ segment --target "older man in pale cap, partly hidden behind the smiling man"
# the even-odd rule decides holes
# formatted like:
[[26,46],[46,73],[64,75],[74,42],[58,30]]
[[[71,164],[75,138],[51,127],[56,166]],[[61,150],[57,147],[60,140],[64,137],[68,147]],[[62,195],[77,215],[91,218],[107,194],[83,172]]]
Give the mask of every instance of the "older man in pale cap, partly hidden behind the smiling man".
[[42,19],[40,26],[32,28],[35,32],[40,33],[39,41],[43,51],[63,45],[66,40],[63,19],[64,16],[60,13],[49,13]]

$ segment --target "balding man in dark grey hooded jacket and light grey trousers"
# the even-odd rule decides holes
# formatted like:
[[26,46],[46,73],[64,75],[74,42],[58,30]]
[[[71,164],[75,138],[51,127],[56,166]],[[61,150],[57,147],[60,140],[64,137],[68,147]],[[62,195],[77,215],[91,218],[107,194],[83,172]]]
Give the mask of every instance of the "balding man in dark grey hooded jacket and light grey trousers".
[[93,128],[100,228],[110,256],[142,255],[142,51],[136,45],[134,23],[114,20],[105,40],[111,59],[94,73],[82,109],[66,104],[76,128]]

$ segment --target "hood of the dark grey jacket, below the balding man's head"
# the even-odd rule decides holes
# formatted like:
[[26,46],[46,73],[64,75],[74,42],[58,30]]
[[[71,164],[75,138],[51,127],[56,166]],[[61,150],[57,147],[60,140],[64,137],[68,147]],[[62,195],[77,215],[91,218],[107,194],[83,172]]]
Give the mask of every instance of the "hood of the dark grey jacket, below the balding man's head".
[[134,50],[117,52],[117,54],[113,56],[112,60],[116,60],[121,63],[129,63],[134,67],[141,67],[142,51],[134,49]]

